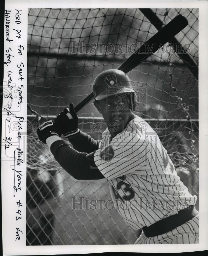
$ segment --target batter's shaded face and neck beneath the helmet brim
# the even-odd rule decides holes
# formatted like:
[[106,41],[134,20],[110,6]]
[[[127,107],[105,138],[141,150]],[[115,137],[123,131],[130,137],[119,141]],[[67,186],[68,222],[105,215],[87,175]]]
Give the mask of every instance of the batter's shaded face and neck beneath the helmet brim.
[[130,109],[131,101],[125,95],[109,96],[97,102],[95,106],[103,115],[112,137],[122,132],[133,117]]

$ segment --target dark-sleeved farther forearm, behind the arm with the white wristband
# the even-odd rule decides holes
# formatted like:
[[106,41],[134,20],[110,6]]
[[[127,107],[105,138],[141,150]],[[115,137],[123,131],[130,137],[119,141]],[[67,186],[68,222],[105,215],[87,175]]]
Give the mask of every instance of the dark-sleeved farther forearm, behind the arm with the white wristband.
[[74,149],[79,152],[91,153],[99,147],[98,140],[94,140],[90,135],[82,131],[75,138],[70,138],[69,141]]

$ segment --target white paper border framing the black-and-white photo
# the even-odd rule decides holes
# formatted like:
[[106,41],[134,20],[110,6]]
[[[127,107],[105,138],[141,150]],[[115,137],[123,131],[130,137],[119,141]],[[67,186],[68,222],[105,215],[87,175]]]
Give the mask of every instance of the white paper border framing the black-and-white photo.
[[[95,246],[26,246],[26,173],[23,174],[23,170],[26,170],[26,161],[24,159],[21,164],[21,170],[23,174],[21,176],[21,193],[20,197],[13,197],[14,187],[14,173],[18,170],[14,170],[13,166],[13,153],[14,150],[7,151],[5,153],[5,141],[2,141],[2,230],[3,230],[3,255],[51,255],[51,254],[80,254],[80,253],[99,253],[99,252],[191,252],[191,251],[203,251],[208,249],[208,186],[207,186],[207,13],[208,2],[207,1],[15,1],[6,0],[5,10],[21,10],[21,25],[17,24],[17,29],[21,28],[21,40],[18,41],[16,37],[18,31],[12,30],[10,27],[10,36],[6,37],[4,29],[4,62],[9,62],[8,65],[4,65],[4,81],[8,80],[8,70],[14,70],[14,81],[18,81],[20,76],[20,68],[22,68],[22,92],[21,95],[24,98],[22,104],[18,104],[17,97],[13,99],[14,107],[17,113],[16,121],[22,124],[23,133],[26,134],[26,122],[21,119],[27,120],[27,15],[28,8],[199,8],[199,228],[200,228],[200,243],[199,244],[177,244],[177,245],[95,245]],[[17,12],[16,12],[17,13]],[[6,16],[5,16],[6,17]],[[10,24],[15,24],[18,21],[18,15],[10,15]],[[6,18],[5,18],[6,22]],[[6,23],[5,23],[6,24]],[[5,26],[5,25],[4,25]],[[10,57],[6,51],[9,49],[9,42],[6,38],[13,41],[10,43],[14,47],[10,51],[12,56],[13,52],[17,54],[18,46],[21,44],[22,55],[18,55],[18,58]],[[16,46],[15,46],[16,44]],[[13,59],[14,58],[14,59]],[[23,63],[21,65],[21,63]],[[9,65],[11,64],[11,65]],[[5,83],[5,82],[4,82]],[[18,86],[18,84],[17,84]],[[7,87],[5,85],[5,87]],[[24,89],[23,89],[24,88]],[[6,89],[5,89],[6,90]],[[14,89],[13,89],[14,92]],[[15,95],[16,96],[16,95]],[[5,139],[6,131],[6,113],[10,113],[8,105],[11,103],[8,93],[8,97],[3,98],[2,108],[2,140]],[[14,109],[13,107],[13,109]],[[18,109],[19,108],[19,109]],[[6,109],[6,110],[5,110]],[[19,111],[19,112],[18,112]],[[13,112],[14,113],[14,112]],[[13,134],[17,135],[17,132]],[[8,136],[7,136],[8,137]],[[8,141],[8,140],[7,140]],[[15,148],[21,146],[26,151],[26,140],[19,140],[14,142]],[[8,141],[8,144],[9,141]],[[11,146],[11,145],[10,145]],[[10,147],[11,148],[11,147]],[[20,152],[16,152],[20,153]],[[25,154],[26,155],[26,154]],[[12,160],[11,160],[12,159]],[[20,173],[19,173],[20,174]],[[11,178],[12,177],[12,178]],[[16,200],[17,199],[17,200]],[[17,201],[20,200],[23,208],[21,215],[21,224],[17,227],[17,222],[14,219],[14,214],[19,210]],[[20,207],[21,208],[21,207]],[[22,208],[22,209],[23,209]],[[19,234],[16,236],[16,231]],[[15,231],[14,231],[15,230]],[[20,230],[23,234],[20,233]],[[15,241],[15,238],[20,236],[20,240]]]

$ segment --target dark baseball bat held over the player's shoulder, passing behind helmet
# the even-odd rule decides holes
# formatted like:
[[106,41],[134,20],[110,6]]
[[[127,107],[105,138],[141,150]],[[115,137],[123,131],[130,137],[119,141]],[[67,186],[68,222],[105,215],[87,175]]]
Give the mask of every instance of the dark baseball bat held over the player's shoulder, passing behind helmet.
[[[123,64],[121,64],[118,69],[124,73],[128,73],[133,68],[141,64],[142,61],[156,52],[160,47],[166,44],[187,25],[187,19],[181,14],[177,15],[167,25],[161,28],[161,30],[159,30],[154,36],[147,40],[135,53],[133,53]],[[75,112],[82,109],[83,106],[93,99],[93,97],[92,92],[75,107]]]

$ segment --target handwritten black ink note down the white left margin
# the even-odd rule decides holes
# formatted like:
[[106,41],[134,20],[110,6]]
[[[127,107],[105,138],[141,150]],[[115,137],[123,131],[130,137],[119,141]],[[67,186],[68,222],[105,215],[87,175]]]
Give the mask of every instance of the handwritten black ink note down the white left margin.
[[10,5],[4,16],[2,163],[9,200],[3,197],[2,206],[12,209],[5,233],[18,246],[26,242],[27,13]]

